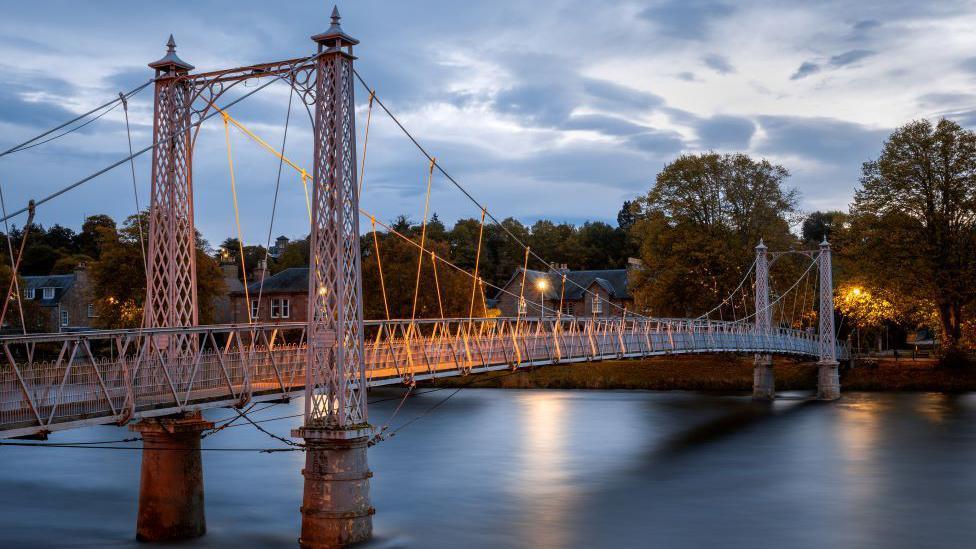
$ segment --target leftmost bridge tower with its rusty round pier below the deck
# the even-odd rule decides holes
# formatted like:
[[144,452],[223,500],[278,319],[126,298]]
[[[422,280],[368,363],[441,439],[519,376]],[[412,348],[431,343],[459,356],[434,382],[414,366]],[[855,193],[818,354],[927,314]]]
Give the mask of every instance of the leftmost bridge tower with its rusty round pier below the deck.
[[[185,78],[193,65],[176,55],[172,35],[166,48],[162,59],[149,64],[156,71],[153,142],[158,145],[152,156],[146,258],[143,325],[148,328],[197,324],[190,138],[192,90]],[[152,345],[162,360],[176,361],[195,343],[187,336],[174,334],[155,337]],[[212,426],[200,417],[200,412],[186,412],[145,419],[130,427],[143,439],[136,521],[138,539],[177,540],[206,532],[200,434]]]

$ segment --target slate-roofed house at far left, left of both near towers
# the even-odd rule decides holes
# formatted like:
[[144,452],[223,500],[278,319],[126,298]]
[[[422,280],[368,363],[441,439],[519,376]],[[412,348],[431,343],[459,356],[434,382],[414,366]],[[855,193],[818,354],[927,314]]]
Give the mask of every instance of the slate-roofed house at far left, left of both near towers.
[[22,276],[25,301],[34,301],[46,312],[45,332],[90,330],[96,318],[95,300],[87,267],[71,274]]

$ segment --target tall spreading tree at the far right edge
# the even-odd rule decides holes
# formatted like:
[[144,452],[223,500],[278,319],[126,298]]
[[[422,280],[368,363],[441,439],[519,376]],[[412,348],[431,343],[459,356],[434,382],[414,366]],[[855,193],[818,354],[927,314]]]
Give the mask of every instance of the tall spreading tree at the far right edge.
[[943,351],[958,357],[976,301],[976,134],[942,119],[895,130],[865,162],[852,225],[868,278],[931,300]]

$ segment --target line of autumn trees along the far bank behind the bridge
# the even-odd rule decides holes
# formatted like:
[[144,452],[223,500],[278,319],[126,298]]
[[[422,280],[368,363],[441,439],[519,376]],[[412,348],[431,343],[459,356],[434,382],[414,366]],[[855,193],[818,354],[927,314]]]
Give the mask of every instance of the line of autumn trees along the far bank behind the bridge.
[[[643,268],[630,281],[638,310],[697,316],[736,288],[760,239],[770,249],[787,250],[815,249],[827,238],[835,259],[835,303],[847,330],[878,338],[882,328],[903,336],[926,326],[936,331],[947,354],[972,349],[976,134],[944,119],[897,129],[880,144],[877,158],[863,164],[847,211],[804,214],[789,176],[785,167],[745,154],[684,154],[657,174],[647,193],[624,202],[616,226],[550,220],[526,225],[507,218],[482,227],[480,219],[468,218],[448,228],[436,214],[426,226],[401,216],[389,230],[376,226],[362,237],[365,315],[485,314],[482,296],[494,296],[495,288],[525,264],[523,243],[550,262],[530,258],[532,269],[622,268],[628,257],[638,257]],[[68,273],[84,263],[93,280],[98,324],[139,325],[148,234],[144,214],[121,226],[105,215],[90,216],[78,232],[61,225],[26,230],[20,274]],[[11,230],[15,247],[24,231]],[[411,242],[421,233],[427,256],[418,261],[418,247]],[[233,238],[213,249],[198,235],[202,322],[212,319],[211,298],[226,292],[219,263],[240,265],[240,249]],[[270,274],[308,265],[307,236],[291,241],[276,257],[261,245],[245,245],[243,251],[240,279],[266,257]],[[470,275],[476,263],[478,282]],[[802,272],[801,265],[789,262],[777,268],[784,280]],[[9,281],[9,273],[8,263],[0,268],[0,282]]]

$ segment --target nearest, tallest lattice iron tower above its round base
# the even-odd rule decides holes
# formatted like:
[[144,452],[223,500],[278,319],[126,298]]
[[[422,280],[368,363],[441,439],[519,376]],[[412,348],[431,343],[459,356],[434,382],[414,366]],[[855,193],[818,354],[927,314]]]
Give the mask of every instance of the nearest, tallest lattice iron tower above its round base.
[[319,57],[305,426],[356,429],[367,418],[352,55],[359,41],[343,32],[337,10],[312,40]]

